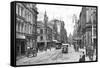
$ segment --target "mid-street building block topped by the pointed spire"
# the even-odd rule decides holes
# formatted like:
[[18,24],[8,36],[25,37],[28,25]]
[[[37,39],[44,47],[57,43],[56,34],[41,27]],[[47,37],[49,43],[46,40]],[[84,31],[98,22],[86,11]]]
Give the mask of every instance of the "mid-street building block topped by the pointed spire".
[[37,22],[37,44],[40,50],[50,48],[52,45],[52,25],[48,23],[48,17],[45,12],[44,20]]

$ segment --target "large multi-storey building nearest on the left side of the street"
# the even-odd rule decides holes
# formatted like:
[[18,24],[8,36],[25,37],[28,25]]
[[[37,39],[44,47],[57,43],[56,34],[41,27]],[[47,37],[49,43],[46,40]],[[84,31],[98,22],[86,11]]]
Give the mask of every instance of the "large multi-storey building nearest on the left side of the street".
[[25,55],[27,47],[36,46],[36,4],[16,3],[16,54]]

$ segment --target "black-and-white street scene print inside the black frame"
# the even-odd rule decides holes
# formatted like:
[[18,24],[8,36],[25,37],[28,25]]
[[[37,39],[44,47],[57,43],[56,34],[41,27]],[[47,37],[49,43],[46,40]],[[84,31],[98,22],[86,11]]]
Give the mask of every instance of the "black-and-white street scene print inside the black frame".
[[16,3],[16,65],[97,61],[97,7]]

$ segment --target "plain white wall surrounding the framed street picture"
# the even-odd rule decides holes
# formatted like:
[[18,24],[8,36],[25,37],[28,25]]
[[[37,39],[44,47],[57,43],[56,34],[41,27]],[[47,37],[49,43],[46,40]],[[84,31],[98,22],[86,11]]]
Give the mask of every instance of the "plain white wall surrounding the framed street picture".
[[[12,0],[0,1],[0,68],[13,68],[10,66],[10,2]],[[28,1],[28,0],[21,0]],[[66,4],[83,4],[83,5],[98,5],[100,12],[100,0],[29,0],[37,2],[54,2],[54,3],[66,3]],[[98,13],[98,19],[100,14]],[[100,20],[99,20],[100,21]],[[100,29],[100,23],[98,23],[98,29]],[[100,33],[100,30],[99,32]],[[100,34],[98,34],[100,38]],[[98,40],[100,41],[100,39]],[[100,44],[100,42],[99,42]],[[100,46],[98,46],[100,48]],[[100,49],[98,49],[100,52]],[[97,63],[76,63],[76,64],[62,64],[62,65],[47,65],[47,66],[34,66],[34,68],[99,68],[100,67],[100,53],[99,62]],[[18,67],[18,68],[33,68],[30,67]]]

